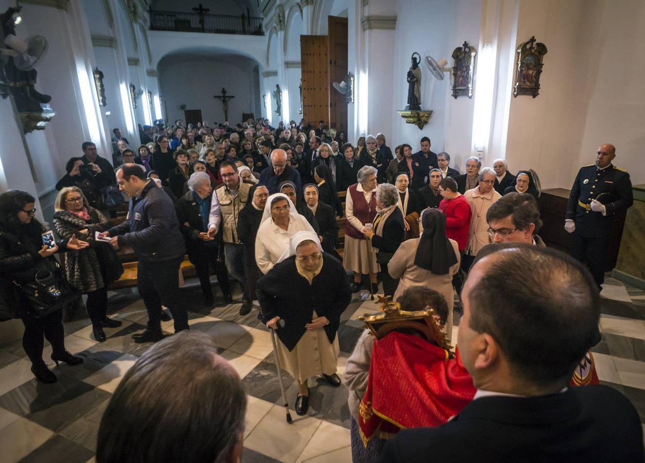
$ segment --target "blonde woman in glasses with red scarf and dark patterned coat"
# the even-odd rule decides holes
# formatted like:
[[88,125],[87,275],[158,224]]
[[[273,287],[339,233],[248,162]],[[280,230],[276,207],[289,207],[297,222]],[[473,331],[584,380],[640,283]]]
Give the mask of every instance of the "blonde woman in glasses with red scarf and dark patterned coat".
[[90,243],[88,248],[70,251],[65,255],[65,275],[77,290],[87,295],[87,312],[92,320],[94,339],[106,339],[103,328],[121,326],[118,320],[108,319],[107,286],[121,277],[123,266],[112,247],[95,242],[94,233],[110,228],[108,219],[90,206],[83,192],[75,186],[63,188],[54,203],[54,228],[59,237],[77,235]]

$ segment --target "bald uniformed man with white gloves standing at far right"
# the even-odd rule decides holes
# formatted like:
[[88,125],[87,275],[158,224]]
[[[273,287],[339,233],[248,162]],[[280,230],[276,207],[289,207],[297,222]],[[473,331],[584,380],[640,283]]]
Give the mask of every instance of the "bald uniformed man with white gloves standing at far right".
[[613,215],[634,202],[630,174],[611,164],[616,147],[605,143],[596,162],[578,171],[566,208],[564,229],[571,233],[571,255],[586,262],[602,290]]

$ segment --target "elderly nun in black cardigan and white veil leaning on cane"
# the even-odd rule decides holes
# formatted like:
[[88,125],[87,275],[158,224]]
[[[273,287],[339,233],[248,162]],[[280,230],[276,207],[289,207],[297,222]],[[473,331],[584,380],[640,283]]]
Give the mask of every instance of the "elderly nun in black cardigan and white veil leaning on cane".
[[[263,321],[279,338],[277,360],[299,385],[295,411],[304,415],[310,377],[322,375],[334,387],[341,384],[337,331],[352,299],[347,273],[323,252],[316,233],[297,232],[279,262],[257,281],[257,296]],[[281,320],[284,327],[279,328]]]

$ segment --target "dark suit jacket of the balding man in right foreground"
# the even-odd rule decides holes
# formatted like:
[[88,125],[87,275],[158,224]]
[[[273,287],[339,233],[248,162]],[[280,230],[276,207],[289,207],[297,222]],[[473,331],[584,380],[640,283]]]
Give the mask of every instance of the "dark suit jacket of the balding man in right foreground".
[[640,419],[608,386],[482,397],[439,428],[404,429],[381,462],[642,462]]

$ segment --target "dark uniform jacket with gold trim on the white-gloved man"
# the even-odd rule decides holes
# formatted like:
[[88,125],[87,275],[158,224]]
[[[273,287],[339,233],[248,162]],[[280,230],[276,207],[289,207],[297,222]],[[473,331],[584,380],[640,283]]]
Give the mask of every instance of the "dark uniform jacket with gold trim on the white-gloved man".
[[[607,203],[600,199],[605,205],[606,216],[591,211],[589,206],[600,193],[612,193],[616,197],[615,201]],[[633,202],[630,174],[626,170],[613,164],[600,170],[591,164],[582,167],[573,181],[565,217],[575,221],[577,233],[584,233],[585,237],[602,237],[611,232],[612,216],[626,211]]]

